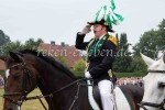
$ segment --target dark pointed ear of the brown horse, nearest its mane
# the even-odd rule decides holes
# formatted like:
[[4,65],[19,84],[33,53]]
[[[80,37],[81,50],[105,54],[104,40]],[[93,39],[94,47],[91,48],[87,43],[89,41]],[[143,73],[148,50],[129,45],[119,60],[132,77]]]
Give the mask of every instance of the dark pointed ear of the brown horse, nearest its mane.
[[23,62],[23,54],[9,52],[9,55],[16,62]]

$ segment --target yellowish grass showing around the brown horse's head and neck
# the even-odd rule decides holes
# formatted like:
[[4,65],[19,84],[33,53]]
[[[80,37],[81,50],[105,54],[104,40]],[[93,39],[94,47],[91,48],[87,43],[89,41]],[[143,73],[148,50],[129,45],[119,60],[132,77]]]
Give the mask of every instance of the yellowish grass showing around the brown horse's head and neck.
[[[0,89],[0,96],[3,95],[3,89]],[[41,95],[41,91],[38,89],[35,89],[32,91],[29,96],[38,96]],[[45,106],[47,107],[47,103],[44,99],[42,99]],[[0,98],[0,110],[2,110],[3,107],[3,99]],[[21,107],[21,110],[44,110],[43,106],[40,103],[38,100],[29,100],[23,103]]]

